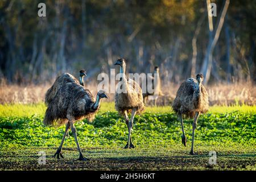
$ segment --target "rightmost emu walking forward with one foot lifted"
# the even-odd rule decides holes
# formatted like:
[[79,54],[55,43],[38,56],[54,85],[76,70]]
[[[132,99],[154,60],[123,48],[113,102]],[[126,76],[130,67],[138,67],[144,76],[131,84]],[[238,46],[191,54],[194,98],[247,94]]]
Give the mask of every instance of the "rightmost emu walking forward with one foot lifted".
[[184,114],[186,117],[194,118],[192,127],[192,146],[190,154],[194,155],[193,143],[195,138],[195,129],[197,125],[197,119],[201,113],[206,113],[209,109],[209,99],[207,90],[201,83],[204,80],[204,76],[199,73],[196,75],[196,79],[188,78],[177,90],[176,98],[172,104],[174,111],[177,113],[180,119],[181,129],[182,129],[182,143],[186,146],[187,138],[185,137],[183,128],[183,118]]

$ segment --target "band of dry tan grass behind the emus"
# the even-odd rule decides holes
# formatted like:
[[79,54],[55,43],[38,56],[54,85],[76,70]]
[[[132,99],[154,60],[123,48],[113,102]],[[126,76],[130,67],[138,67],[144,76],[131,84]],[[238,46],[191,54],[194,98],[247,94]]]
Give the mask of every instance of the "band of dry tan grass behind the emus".
[[[162,83],[164,96],[159,97],[158,105],[171,105],[180,84]],[[4,82],[0,85],[0,104],[36,104],[44,101],[44,94],[51,84],[42,85],[10,85]],[[97,93],[97,84],[88,83],[93,95]],[[210,105],[256,105],[256,85],[250,82],[235,84],[208,85]],[[114,100],[114,94],[109,94],[108,102]],[[148,105],[152,102],[148,101]]]

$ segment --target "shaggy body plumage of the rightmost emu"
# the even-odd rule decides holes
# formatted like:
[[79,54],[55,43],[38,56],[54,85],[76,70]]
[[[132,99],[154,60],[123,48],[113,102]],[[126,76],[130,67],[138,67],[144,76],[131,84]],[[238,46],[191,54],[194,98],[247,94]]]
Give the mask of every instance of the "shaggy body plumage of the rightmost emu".
[[188,78],[177,90],[176,98],[172,107],[176,113],[187,117],[195,117],[196,112],[206,113],[209,109],[208,93],[201,84],[201,97],[196,97],[197,80]]

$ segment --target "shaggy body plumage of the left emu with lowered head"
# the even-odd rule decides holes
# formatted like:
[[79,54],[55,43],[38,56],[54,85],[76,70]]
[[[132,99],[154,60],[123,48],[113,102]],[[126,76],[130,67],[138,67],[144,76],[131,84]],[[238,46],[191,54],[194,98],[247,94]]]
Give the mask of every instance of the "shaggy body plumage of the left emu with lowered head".
[[72,115],[75,120],[86,118],[92,121],[98,110],[93,109],[95,102],[92,93],[79,82],[65,82],[48,104],[44,125],[64,125],[68,122],[67,115]]

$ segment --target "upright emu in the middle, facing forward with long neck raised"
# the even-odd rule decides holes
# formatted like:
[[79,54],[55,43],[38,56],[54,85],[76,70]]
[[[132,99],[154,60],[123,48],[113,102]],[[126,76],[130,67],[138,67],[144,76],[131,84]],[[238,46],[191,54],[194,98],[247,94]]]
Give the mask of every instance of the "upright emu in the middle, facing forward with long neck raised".
[[[135,114],[141,114],[144,110],[142,90],[137,82],[131,79],[127,80],[125,76],[125,59],[118,59],[114,65],[120,66],[119,86],[115,90],[115,109],[125,117],[128,128],[128,141],[125,148],[134,148],[134,144],[131,141],[131,129]],[[130,121],[127,113],[131,113]]]

